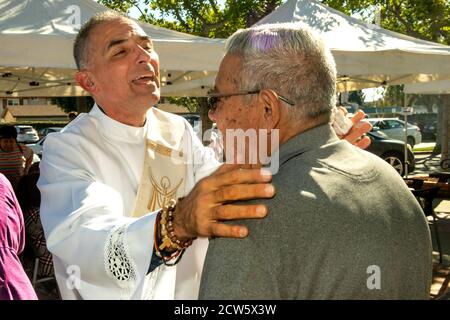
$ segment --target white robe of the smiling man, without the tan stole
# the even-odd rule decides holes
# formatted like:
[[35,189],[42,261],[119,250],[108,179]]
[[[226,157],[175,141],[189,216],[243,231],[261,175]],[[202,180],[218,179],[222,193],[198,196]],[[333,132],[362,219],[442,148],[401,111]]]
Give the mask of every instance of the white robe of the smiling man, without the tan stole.
[[[198,239],[175,267],[148,273],[156,214],[132,217],[147,130],[185,126],[182,194],[218,167],[181,117],[151,108],[144,127],[107,117],[96,105],[47,136],[40,164],[41,220],[63,299],[196,299],[207,240]],[[153,123],[152,123],[153,122]],[[172,123],[172,122],[171,122]],[[170,125],[167,124],[168,130]]]

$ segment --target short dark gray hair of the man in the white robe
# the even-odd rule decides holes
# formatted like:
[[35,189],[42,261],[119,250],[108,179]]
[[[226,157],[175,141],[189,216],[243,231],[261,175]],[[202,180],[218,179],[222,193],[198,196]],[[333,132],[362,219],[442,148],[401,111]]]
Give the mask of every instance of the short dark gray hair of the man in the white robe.
[[116,11],[103,11],[93,15],[80,29],[73,43],[73,57],[78,70],[86,67],[88,61],[89,36],[103,22],[129,19]]

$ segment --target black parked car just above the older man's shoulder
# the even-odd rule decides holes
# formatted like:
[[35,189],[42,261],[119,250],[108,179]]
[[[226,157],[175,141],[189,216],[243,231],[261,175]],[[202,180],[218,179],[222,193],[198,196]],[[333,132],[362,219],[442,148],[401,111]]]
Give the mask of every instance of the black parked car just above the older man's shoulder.
[[[368,132],[367,136],[372,140],[372,143],[366,150],[385,160],[403,176],[405,174],[405,143],[403,141],[382,137],[373,132]],[[407,150],[409,173],[414,171],[416,162],[412,147],[409,144],[407,145]]]

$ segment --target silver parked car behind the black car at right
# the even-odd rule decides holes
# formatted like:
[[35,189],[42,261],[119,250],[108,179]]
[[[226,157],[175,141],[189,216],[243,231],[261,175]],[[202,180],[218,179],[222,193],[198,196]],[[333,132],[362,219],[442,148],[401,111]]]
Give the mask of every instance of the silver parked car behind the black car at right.
[[[369,118],[372,124],[372,131],[381,131],[391,139],[405,141],[405,122],[397,118]],[[420,128],[411,123],[407,124],[407,142],[414,147],[422,142]]]

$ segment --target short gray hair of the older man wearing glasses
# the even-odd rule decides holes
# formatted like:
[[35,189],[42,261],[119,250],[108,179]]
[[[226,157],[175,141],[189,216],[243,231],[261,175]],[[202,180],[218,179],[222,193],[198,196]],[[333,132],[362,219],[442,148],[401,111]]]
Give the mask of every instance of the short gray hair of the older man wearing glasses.
[[336,104],[336,65],[322,39],[299,23],[236,31],[226,53],[242,59],[240,90],[273,89],[295,102],[295,118],[317,118]]

